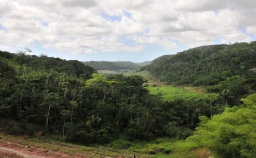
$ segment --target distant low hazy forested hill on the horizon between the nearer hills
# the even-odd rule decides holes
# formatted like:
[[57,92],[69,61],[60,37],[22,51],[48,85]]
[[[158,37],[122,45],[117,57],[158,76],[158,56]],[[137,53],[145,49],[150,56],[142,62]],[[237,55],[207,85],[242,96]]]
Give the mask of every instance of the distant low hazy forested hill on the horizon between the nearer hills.
[[131,61],[83,61],[82,63],[96,70],[135,70],[141,66],[150,64],[150,61],[143,63],[133,63]]

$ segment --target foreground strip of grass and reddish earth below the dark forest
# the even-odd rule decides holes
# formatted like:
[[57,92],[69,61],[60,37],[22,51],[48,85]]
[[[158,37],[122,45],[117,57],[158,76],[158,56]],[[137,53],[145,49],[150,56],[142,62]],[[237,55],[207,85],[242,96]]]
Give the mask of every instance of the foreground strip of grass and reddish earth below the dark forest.
[[104,146],[82,146],[63,143],[54,141],[54,139],[47,136],[22,138],[0,134],[0,138],[0,146],[4,146],[5,148],[27,149],[34,153],[38,151],[48,155],[52,155],[52,152],[57,152],[59,155],[61,155],[60,153],[64,153],[66,157],[74,157],[80,154],[93,158],[102,158],[105,156],[124,158],[135,154],[140,158],[198,158],[200,153],[205,151],[190,141],[176,141],[176,139],[171,138],[158,138],[150,142],[129,142],[124,139],[118,139]]

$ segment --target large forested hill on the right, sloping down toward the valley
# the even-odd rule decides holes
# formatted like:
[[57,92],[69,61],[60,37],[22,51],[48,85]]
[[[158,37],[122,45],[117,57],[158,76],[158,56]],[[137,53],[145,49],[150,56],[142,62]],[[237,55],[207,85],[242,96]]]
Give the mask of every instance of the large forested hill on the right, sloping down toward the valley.
[[201,46],[165,55],[142,67],[161,81],[214,85],[227,77],[250,74],[256,67],[256,41]]

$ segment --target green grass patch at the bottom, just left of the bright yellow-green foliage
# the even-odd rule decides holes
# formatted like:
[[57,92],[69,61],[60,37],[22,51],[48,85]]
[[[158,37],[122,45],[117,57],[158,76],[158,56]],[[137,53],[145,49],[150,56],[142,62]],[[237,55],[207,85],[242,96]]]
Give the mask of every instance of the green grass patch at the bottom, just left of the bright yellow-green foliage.
[[[112,148],[123,147],[124,144],[131,146],[126,149],[127,153],[135,153],[137,157],[152,158],[198,158],[202,151],[206,151],[196,143],[187,140],[171,138],[158,138],[150,142],[129,142],[123,139],[113,141],[108,146]],[[129,156],[129,155],[128,155]]]

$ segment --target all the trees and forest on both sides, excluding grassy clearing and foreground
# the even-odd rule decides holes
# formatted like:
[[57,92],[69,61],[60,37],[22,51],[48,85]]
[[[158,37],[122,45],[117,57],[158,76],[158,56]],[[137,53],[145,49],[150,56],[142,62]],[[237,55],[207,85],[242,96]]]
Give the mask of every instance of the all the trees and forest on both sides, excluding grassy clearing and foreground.
[[[172,100],[150,94],[142,76],[105,77],[77,60],[28,55],[29,49],[0,51],[0,128],[30,136],[43,131],[52,139],[84,145],[120,137],[129,141],[188,137],[217,157],[253,157],[254,46],[256,42],[203,46],[143,67],[162,81],[204,85],[219,94]],[[183,74],[183,69],[190,73]]]

